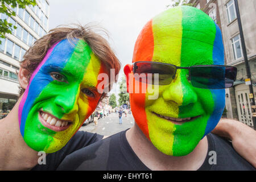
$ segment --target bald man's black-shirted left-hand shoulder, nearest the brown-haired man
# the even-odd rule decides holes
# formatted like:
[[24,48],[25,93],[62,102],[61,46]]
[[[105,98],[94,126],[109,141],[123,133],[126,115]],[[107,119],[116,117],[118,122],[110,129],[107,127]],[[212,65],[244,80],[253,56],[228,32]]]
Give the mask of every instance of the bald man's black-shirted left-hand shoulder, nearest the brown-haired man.
[[68,155],[57,170],[149,170],[131,149],[121,131]]

